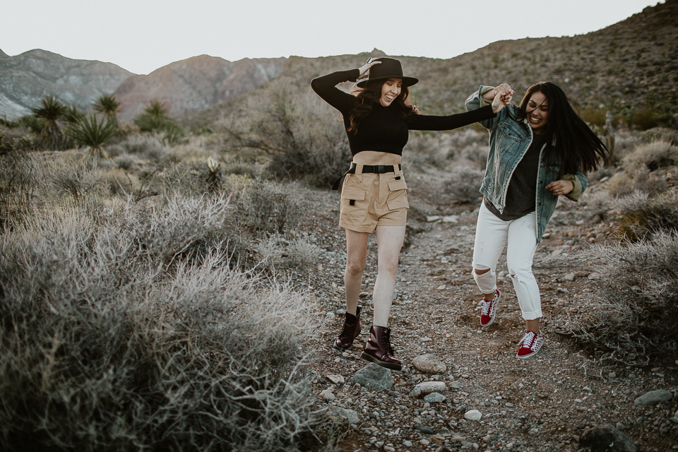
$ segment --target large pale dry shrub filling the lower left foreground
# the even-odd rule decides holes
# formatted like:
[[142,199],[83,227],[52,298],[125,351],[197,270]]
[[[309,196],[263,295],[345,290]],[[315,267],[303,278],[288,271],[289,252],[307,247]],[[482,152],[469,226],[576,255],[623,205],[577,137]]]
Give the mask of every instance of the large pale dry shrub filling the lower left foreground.
[[191,252],[222,198],[114,201],[0,237],[0,441],[9,450],[295,451],[314,422],[304,294]]

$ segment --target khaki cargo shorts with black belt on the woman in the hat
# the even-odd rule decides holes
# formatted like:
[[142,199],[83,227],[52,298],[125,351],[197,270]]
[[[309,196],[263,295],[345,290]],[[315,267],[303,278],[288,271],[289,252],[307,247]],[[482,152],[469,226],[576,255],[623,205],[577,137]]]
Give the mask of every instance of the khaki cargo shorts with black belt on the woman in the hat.
[[339,225],[357,232],[374,232],[377,226],[405,226],[408,220],[408,184],[396,174],[346,174],[341,189]]

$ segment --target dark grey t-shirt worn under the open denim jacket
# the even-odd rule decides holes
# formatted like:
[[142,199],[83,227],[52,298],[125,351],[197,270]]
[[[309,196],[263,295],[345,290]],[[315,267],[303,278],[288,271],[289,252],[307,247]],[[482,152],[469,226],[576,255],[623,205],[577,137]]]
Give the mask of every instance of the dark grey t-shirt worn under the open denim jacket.
[[532,144],[518,162],[511,174],[509,189],[506,191],[506,207],[499,213],[489,199],[484,198],[485,207],[500,220],[511,221],[535,211],[537,204],[537,174],[539,172],[539,154],[546,143],[546,135],[533,133]]

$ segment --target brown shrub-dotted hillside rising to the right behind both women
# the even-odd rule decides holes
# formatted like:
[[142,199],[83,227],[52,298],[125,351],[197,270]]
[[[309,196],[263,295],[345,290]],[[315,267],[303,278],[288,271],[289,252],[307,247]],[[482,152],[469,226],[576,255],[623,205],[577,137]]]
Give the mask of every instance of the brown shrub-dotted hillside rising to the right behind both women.
[[[287,90],[304,96],[312,78],[352,69],[383,52],[326,58],[291,57],[262,90],[192,114],[184,124],[207,124],[246,104],[246,98]],[[396,56],[397,57],[397,56]],[[678,0],[647,7],[622,22],[586,35],[499,41],[452,59],[397,57],[420,78],[413,100],[427,113],[458,112],[480,84],[510,83],[520,100],[536,81],[553,81],[583,107],[640,109],[676,96]],[[318,101],[321,102],[321,101]],[[675,112],[674,112],[675,114]]]

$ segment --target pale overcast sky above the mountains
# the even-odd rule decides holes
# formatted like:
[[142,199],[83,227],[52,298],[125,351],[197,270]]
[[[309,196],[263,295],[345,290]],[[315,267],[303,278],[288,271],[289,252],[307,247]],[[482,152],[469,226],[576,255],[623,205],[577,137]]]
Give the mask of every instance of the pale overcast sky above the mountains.
[[[663,3],[663,2],[660,2]],[[499,40],[571,36],[648,0],[4,0],[0,49],[44,49],[145,74],[208,54],[326,57],[377,48],[451,58]]]

